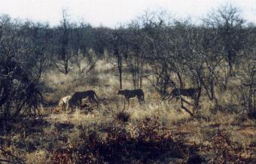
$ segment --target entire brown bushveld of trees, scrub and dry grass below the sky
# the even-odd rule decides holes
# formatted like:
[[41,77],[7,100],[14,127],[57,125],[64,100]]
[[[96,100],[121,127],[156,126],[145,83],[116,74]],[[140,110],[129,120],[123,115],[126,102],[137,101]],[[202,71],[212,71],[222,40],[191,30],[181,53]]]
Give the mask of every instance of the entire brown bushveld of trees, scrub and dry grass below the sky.
[[[126,29],[0,17],[0,162],[256,162],[255,26],[233,7],[200,26],[157,16]],[[123,108],[117,90],[138,88],[145,103]],[[57,107],[84,90],[105,101]]]

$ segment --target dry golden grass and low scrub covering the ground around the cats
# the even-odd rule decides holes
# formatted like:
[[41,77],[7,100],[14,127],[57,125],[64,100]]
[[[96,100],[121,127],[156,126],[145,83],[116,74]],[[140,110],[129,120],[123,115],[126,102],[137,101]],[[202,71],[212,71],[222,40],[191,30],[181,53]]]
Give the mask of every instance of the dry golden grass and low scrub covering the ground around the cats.
[[[123,97],[116,95],[119,84],[114,68],[99,60],[87,74],[75,67],[69,74],[45,72],[42,80],[48,87],[44,92],[47,101],[56,102],[76,90],[95,90],[106,100],[99,107],[93,105],[93,111],[81,108],[71,114],[44,108],[43,117],[1,133],[1,148],[26,163],[117,162],[110,155],[127,163],[256,162],[256,123],[232,112],[239,111],[235,94],[218,91],[216,105],[203,93],[199,113],[190,117],[174,99],[161,102],[145,80],[145,105],[132,99],[130,108],[123,110]],[[132,88],[129,78],[124,73],[124,88]],[[108,151],[102,153],[101,149]],[[17,162],[1,150],[0,159]]]

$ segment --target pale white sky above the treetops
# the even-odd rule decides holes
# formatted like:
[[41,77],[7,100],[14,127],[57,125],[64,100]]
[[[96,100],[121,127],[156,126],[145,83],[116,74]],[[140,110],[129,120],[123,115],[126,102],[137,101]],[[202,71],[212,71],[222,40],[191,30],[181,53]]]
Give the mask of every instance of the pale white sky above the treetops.
[[146,10],[166,10],[176,18],[196,21],[227,4],[239,8],[248,22],[256,23],[256,0],[0,0],[0,14],[54,26],[66,8],[72,21],[115,27]]

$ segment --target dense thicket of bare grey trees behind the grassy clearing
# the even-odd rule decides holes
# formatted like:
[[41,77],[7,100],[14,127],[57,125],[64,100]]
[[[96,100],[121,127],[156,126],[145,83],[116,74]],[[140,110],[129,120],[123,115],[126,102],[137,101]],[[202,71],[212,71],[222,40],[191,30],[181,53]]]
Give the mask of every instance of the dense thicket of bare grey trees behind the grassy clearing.
[[216,87],[229,90],[230,78],[236,78],[240,104],[255,113],[256,27],[246,24],[236,8],[220,8],[197,26],[156,13],[117,29],[72,23],[65,12],[62,16],[56,27],[0,18],[0,117],[16,116],[36,102],[44,69],[54,66],[69,74],[75,64],[83,72],[81,59],[93,65],[104,56],[117,62],[120,88],[124,64],[134,88],[143,87],[145,78],[162,96],[169,87],[198,88],[194,109],[201,90],[218,102]]

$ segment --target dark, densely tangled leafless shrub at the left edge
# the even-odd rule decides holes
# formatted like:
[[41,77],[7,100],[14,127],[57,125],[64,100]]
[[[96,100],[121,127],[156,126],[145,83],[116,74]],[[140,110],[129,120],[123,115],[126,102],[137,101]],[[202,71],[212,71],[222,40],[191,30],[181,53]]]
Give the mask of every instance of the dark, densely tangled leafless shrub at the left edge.
[[0,120],[10,120],[23,113],[36,114],[37,80],[15,59],[1,59],[0,64]]

